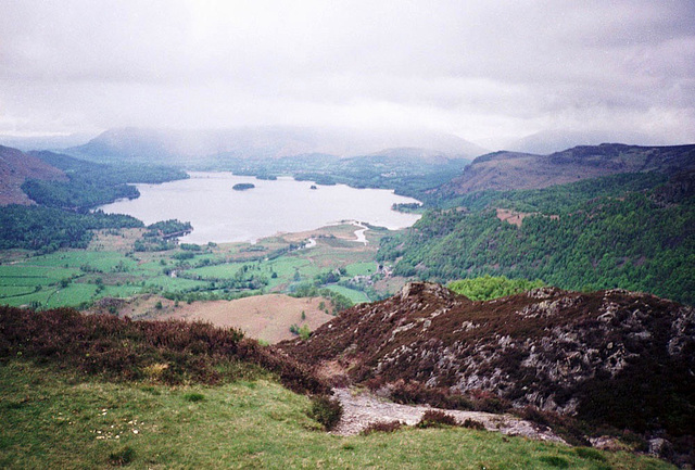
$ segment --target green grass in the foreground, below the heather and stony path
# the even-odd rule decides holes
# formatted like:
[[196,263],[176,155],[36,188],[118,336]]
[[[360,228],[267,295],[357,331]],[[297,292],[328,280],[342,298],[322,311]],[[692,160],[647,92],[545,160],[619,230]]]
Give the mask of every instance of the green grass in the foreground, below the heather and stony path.
[[666,469],[602,453],[465,429],[339,437],[308,399],[270,376],[222,385],[112,382],[56,364],[0,366],[0,467]]

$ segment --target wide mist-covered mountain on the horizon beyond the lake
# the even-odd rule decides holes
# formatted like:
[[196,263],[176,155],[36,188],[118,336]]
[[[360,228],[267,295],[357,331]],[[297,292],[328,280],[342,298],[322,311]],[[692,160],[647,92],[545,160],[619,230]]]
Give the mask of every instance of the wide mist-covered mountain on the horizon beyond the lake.
[[392,148],[418,148],[422,153],[442,153],[450,157],[471,157],[484,153],[484,149],[456,136],[430,131],[394,132],[289,126],[217,130],[111,129],[66,152],[102,162],[130,160],[185,165],[207,163],[217,155],[277,158],[328,154],[345,157]]

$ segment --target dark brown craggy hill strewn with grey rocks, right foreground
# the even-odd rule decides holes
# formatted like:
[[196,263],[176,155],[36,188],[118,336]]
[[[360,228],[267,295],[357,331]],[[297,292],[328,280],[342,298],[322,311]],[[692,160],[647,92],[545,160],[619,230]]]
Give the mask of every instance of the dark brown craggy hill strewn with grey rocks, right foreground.
[[653,295],[543,288],[472,302],[410,283],[280,347],[356,383],[492,392],[619,429],[695,433],[695,309]]

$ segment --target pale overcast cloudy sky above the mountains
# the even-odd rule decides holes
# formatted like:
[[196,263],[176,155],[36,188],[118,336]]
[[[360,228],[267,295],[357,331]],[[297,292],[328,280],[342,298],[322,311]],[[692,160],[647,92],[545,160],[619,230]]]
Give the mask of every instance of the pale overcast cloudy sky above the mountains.
[[0,135],[257,124],[695,142],[695,2],[0,0]]

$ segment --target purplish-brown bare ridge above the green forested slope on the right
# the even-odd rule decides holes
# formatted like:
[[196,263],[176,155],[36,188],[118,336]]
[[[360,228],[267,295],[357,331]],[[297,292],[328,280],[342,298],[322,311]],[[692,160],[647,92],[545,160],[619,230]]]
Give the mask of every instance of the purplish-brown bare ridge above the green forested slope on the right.
[[482,190],[538,189],[619,173],[674,174],[695,168],[695,145],[582,145],[549,155],[494,152],[477,157],[440,188],[442,194]]

